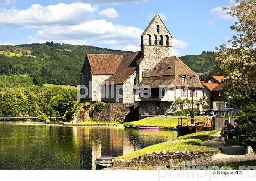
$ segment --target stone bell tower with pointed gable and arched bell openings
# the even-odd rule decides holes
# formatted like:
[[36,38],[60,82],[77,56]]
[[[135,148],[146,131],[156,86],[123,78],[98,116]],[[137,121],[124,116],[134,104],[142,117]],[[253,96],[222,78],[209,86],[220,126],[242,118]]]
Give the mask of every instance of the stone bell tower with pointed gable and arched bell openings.
[[172,56],[172,36],[159,15],[155,15],[141,35],[139,82],[163,58]]

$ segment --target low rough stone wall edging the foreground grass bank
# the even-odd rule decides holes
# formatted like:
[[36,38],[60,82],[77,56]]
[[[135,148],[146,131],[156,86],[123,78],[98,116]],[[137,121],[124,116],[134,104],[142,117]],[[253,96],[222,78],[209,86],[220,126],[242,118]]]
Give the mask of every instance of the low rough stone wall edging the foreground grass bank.
[[221,151],[155,151],[138,156],[131,160],[114,159],[113,166],[138,167],[138,166],[169,166],[170,162],[189,161],[204,156],[210,156]]

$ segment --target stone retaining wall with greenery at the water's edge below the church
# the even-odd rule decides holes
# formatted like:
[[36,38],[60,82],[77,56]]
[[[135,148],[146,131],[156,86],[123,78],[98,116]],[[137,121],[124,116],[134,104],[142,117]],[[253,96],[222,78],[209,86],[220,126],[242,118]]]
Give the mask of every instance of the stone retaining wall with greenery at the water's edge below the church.
[[93,121],[129,122],[138,120],[138,106],[134,104],[107,104],[104,111],[94,111]]

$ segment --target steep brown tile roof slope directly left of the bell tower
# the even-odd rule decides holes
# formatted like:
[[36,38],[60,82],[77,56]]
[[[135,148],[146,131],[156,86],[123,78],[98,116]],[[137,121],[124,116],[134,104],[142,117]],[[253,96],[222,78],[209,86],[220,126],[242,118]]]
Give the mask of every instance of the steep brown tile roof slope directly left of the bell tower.
[[140,51],[123,55],[116,72],[106,81],[114,81],[114,84],[123,84],[136,71],[141,61]]

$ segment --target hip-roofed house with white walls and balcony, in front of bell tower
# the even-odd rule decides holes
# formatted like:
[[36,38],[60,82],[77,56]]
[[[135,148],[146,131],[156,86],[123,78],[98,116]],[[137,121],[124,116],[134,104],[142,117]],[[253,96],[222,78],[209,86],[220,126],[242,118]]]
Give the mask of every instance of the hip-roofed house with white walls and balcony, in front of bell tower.
[[[193,89],[192,89],[193,81]],[[138,87],[151,87],[151,96],[143,98],[135,95],[139,104],[139,116],[167,115],[168,112],[191,108],[191,105],[181,104],[175,107],[176,100],[199,100],[203,97],[199,76],[185,65],[178,57],[166,57],[151,69],[139,83]],[[194,105],[202,109],[201,105]]]

